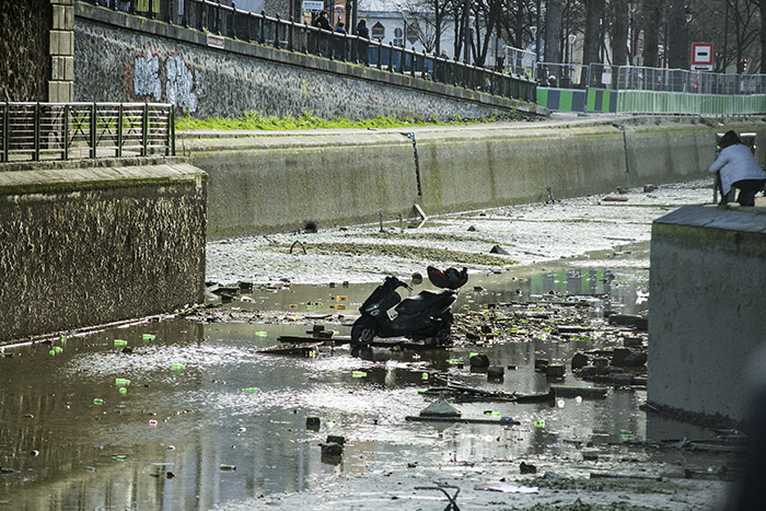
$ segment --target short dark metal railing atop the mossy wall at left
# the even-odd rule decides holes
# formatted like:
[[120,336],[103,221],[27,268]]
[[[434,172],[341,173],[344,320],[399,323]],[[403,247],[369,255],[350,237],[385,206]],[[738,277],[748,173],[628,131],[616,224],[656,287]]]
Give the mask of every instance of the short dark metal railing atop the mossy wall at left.
[[0,162],[175,155],[165,103],[0,103]]

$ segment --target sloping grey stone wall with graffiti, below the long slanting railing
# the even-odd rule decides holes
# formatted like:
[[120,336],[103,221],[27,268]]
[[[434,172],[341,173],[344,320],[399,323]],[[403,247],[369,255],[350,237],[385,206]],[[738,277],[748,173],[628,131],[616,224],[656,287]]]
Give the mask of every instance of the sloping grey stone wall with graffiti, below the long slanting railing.
[[169,102],[197,117],[267,115],[475,118],[533,108],[521,102],[225,39],[199,31],[76,4],[74,101]]

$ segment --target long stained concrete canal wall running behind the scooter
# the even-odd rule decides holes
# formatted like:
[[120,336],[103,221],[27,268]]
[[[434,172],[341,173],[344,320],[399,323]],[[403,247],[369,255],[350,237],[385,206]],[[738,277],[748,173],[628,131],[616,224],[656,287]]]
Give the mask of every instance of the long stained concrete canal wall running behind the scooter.
[[[728,128],[757,131],[766,147],[761,121]],[[700,178],[721,129],[653,119],[413,129],[417,164],[403,129],[185,138],[178,150],[210,176],[208,237],[221,239],[374,221],[415,204],[434,214],[545,200],[547,187],[562,198]]]

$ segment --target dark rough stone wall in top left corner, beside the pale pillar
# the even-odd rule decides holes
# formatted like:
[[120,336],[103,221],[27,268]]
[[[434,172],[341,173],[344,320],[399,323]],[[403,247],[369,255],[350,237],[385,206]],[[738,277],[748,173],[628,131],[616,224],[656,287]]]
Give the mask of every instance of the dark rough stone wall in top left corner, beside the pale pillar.
[[47,101],[50,0],[0,0],[0,101]]

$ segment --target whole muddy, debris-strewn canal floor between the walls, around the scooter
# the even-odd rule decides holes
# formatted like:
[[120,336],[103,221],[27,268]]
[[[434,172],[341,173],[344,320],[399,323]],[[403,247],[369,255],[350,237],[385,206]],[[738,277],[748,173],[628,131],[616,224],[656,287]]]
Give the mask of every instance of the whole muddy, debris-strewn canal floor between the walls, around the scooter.
[[[709,195],[211,243],[206,304],[4,349],[0,507],[438,510],[460,490],[462,510],[721,509],[731,433],[646,409],[646,330],[607,318],[647,312],[651,220]],[[471,270],[452,346],[350,357],[359,303],[428,264]],[[286,336],[322,345],[264,351]],[[406,420],[438,390],[495,423]],[[328,435],[340,455],[323,453]]]

